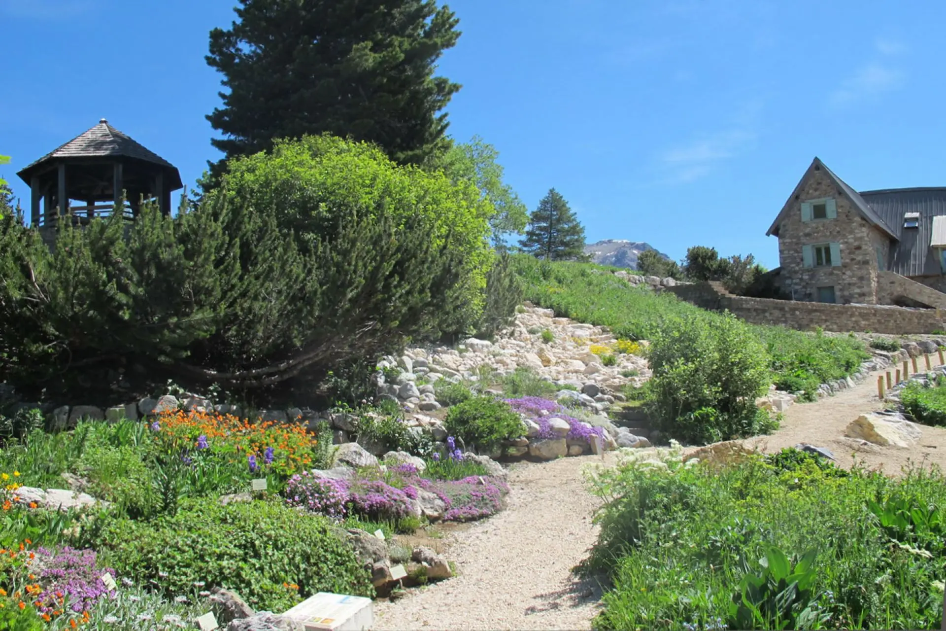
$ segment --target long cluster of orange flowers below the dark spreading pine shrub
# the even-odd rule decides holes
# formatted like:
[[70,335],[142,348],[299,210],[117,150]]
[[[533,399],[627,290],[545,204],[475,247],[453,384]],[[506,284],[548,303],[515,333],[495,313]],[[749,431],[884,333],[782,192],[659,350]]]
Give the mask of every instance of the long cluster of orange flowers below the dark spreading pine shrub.
[[229,454],[234,461],[256,456],[262,464],[266,449],[272,447],[272,468],[287,475],[312,463],[316,445],[301,421],[251,423],[232,414],[184,411],[162,412],[155,421],[159,440],[171,451],[199,449],[203,436],[215,453]]

